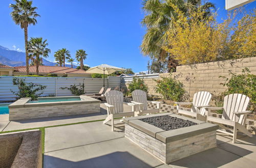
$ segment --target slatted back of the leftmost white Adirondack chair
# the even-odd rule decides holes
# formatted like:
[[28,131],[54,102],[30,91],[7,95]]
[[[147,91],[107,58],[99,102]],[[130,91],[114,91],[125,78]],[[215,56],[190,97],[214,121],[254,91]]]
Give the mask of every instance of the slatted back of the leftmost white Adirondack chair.
[[114,105],[114,114],[123,112],[123,94],[119,91],[109,91],[105,93],[106,102]]

